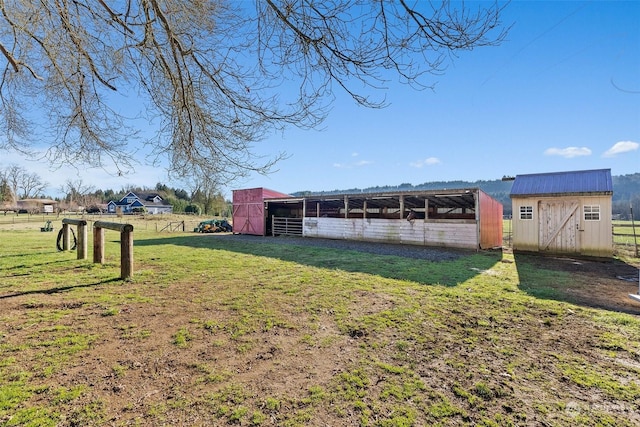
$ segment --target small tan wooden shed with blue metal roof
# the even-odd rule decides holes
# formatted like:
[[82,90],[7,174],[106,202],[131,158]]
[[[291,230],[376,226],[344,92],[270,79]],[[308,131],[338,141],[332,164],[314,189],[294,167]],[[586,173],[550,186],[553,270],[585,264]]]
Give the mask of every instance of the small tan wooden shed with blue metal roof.
[[517,175],[513,249],[611,257],[612,195],[610,169]]

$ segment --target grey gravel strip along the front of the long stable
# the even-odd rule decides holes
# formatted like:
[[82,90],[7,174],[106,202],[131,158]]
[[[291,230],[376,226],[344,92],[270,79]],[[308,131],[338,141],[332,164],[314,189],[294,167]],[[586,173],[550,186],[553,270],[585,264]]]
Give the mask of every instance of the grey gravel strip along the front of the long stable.
[[452,261],[468,256],[474,251],[468,249],[445,249],[438,247],[399,245],[379,242],[362,242],[355,240],[320,239],[315,237],[262,237],[248,234],[229,235],[230,238],[242,242],[269,243],[278,245],[313,246],[345,251],[359,251],[376,255],[392,255],[404,258],[424,259],[429,261]]

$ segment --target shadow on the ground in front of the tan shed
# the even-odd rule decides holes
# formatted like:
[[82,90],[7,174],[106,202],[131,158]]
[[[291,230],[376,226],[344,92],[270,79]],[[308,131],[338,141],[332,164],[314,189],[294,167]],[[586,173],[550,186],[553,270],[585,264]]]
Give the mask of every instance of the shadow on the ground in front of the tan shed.
[[528,252],[515,252],[514,260],[520,289],[536,298],[640,315],[640,303],[629,298],[638,292],[638,269],[633,265],[613,258]]

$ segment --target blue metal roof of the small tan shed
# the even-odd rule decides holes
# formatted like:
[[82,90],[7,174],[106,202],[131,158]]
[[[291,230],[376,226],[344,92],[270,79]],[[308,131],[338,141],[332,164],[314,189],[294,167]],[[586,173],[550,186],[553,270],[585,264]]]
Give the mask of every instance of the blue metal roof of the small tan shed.
[[613,194],[611,169],[516,175],[510,196]]

